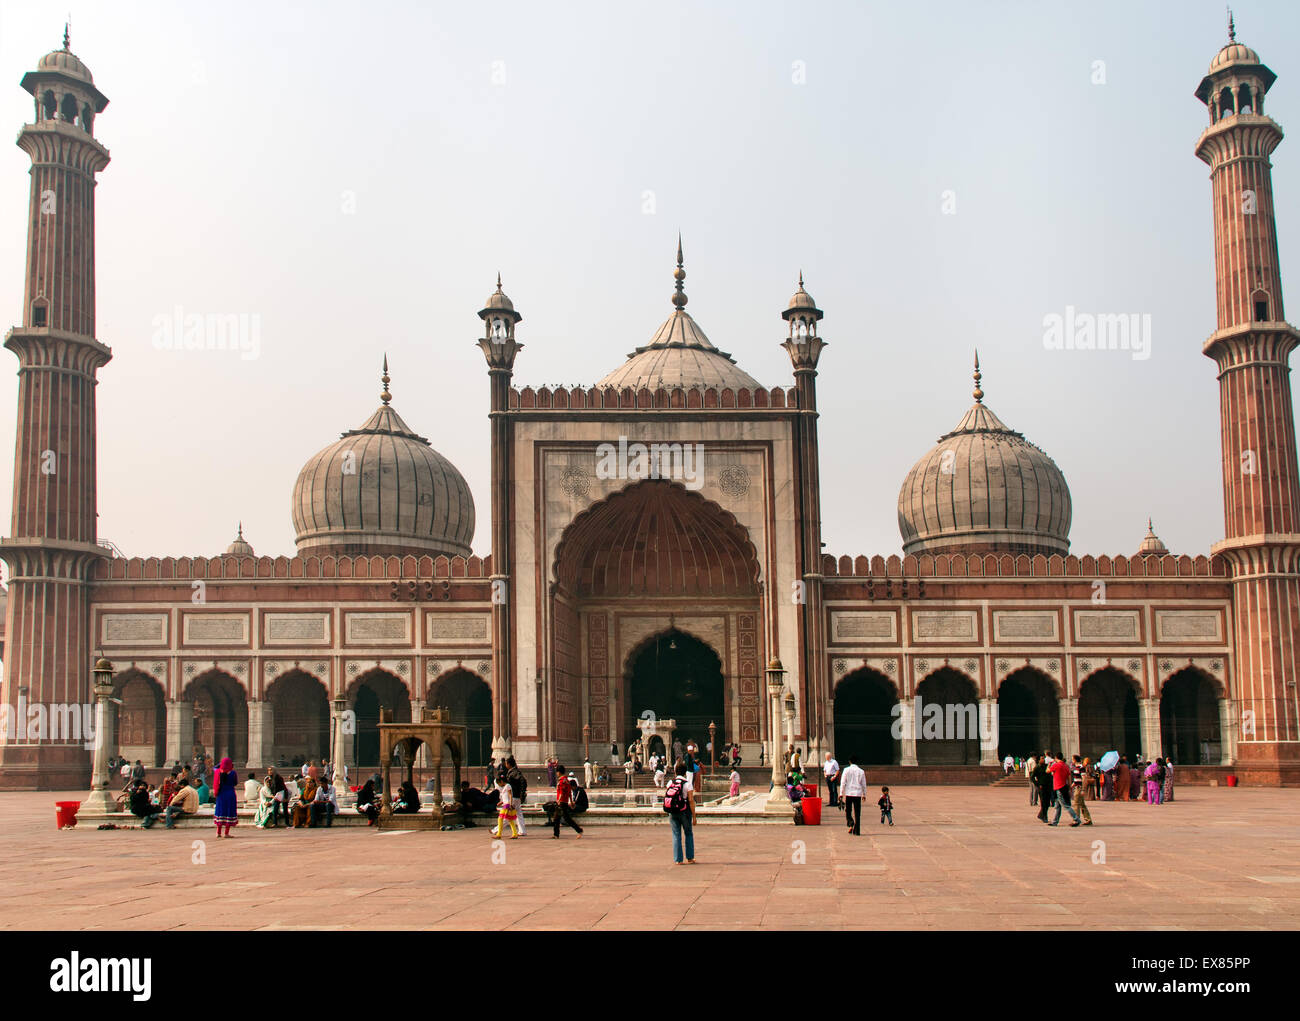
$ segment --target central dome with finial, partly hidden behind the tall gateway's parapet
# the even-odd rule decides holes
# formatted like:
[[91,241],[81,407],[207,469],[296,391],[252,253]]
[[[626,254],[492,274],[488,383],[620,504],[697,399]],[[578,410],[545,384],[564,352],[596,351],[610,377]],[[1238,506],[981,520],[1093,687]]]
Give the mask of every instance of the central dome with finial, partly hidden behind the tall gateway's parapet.
[[677,239],[677,290],[672,295],[673,313],[664,320],[650,343],[628,355],[628,360],[602,378],[597,386],[630,386],[651,390],[690,386],[758,390],[762,384],[736,364],[736,359],[710,343],[699,324],[686,312],[682,281],[681,238]]

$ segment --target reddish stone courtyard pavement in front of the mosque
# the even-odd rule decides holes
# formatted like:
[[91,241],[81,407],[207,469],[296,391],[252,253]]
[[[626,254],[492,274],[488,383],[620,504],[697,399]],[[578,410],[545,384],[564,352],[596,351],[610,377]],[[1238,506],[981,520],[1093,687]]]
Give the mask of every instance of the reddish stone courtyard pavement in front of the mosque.
[[[1020,787],[896,787],[893,829],[662,825],[55,829],[55,792],[0,795],[0,927],[1297,929],[1300,789],[1182,787],[1171,805],[1034,817]],[[73,799],[79,795],[72,795]],[[198,845],[195,842],[200,842]]]

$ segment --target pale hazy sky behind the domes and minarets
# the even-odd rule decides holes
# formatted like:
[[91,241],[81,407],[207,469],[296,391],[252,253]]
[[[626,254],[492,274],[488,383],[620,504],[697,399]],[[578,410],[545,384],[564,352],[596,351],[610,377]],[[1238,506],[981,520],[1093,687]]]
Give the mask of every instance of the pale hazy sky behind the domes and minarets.
[[[0,127],[60,46],[68,0],[0,5]],[[1300,130],[1300,7],[1243,3],[1238,38]],[[465,475],[489,551],[498,269],[520,384],[594,382],[689,311],[768,385],[802,268],[826,311],[831,553],[900,549],[898,486],[971,403],[1061,466],[1071,550],[1222,537],[1208,124],[1226,42],[1196,3],[113,3],[72,8],[110,104],[99,176],[99,533],[214,554],[243,519],[292,553],[320,447],[394,406]],[[1290,60],[1288,60],[1290,59]],[[1097,65],[1096,61],[1104,61]],[[1098,75],[1098,68],[1101,74]],[[1104,77],[1104,83],[1095,79]],[[1300,140],[1274,155],[1300,300]],[[21,321],[30,164],[0,147],[0,324]],[[646,192],[653,192],[647,195]],[[949,209],[945,212],[945,192]],[[653,208],[651,208],[653,207]],[[1044,317],[1150,316],[1150,356],[1053,351]],[[160,351],[159,316],[242,313],[257,358]],[[1292,321],[1295,316],[1292,315]],[[0,352],[10,369],[16,360]],[[17,380],[0,375],[0,450]],[[0,470],[8,531],[10,471]]]

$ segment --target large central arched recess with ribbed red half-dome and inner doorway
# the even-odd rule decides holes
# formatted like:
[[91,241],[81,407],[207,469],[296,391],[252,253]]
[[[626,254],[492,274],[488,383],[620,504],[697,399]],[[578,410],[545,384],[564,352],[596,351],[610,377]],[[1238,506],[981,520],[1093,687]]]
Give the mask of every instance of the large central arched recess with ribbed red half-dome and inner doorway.
[[[653,457],[671,454],[668,449]],[[640,736],[636,721],[647,710],[675,715],[675,736],[684,744],[693,739],[701,749],[710,723],[716,724],[719,745],[762,739],[759,561],[748,528],[733,514],[680,483],[645,479],[568,524],[555,548],[554,572],[549,700],[542,708],[550,740],[572,741],[581,752],[582,724],[589,723],[592,747],[601,748],[602,757],[610,743],[621,753]],[[662,623],[646,627],[647,613]],[[632,624],[632,617],[642,619]],[[676,630],[675,620],[697,639]],[[659,633],[646,637],[647,631]],[[679,649],[670,648],[673,640]],[[681,658],[688,649],[698,652],[697,641],[708,656]],[[734,675],[723,675],[723,650],[733,657],[725,669]],[[688,675],[681,674],[686,667]],[[667,679],[673,670],[680,689]]]

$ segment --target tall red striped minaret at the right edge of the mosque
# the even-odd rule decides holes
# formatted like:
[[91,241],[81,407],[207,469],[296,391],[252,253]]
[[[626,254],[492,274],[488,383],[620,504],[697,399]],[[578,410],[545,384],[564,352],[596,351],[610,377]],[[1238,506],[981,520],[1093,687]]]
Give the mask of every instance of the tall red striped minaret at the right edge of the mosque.
[[1239,770],[1261,780],[1300,775],[1300,471],[1287,365],[1300,334],[1283,321],[1273,216],[1269,156],[1282,129],[1264,98],[1275,77],[1230,18],[1196,90],[1210,114],[1196,155],[1210,166],[1218,291],[1204,349],[1218,365],[1223,441],[1226,538],[1214,553],[1234,577],[1236,700],[1223,723],[1235,726]]

